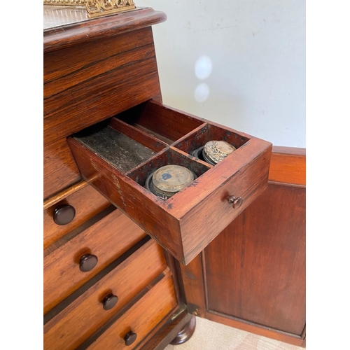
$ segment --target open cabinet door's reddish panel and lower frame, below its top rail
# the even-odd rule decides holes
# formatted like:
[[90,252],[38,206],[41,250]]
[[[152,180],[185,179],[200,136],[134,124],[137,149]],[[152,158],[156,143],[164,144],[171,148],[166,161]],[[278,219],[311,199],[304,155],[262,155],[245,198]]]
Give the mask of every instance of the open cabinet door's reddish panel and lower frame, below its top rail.
[[181,273],[190,313],[302,346],[305,188],[293,174],[284,180],[269,182]]

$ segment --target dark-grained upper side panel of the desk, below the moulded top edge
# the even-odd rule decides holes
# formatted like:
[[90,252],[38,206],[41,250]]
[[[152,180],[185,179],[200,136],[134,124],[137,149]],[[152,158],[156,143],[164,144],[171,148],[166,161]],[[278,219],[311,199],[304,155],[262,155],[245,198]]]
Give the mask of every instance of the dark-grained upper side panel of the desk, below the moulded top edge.
[[160,99],[151,27],[46,53],[44,198],[80,180],[66,137],[151,98]]

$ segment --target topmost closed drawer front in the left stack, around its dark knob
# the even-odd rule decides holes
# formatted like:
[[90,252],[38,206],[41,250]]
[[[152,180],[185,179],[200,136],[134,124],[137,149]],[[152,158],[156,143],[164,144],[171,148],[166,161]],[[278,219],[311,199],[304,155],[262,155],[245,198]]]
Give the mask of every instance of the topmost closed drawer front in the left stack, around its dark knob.
[[[85,181],[69,188],[65,193],[71,193],[71,195],[59,194],[47,201],[48,204],[44,206],[44,208],[47,207],[43,212],[44,249],[111,205],[97,190],[87,186]],[[50,205],[50,202],[53,204]],[[63,206],[73,207],[75,216],[66,225],[58,225],[54,221],[55,211]]]

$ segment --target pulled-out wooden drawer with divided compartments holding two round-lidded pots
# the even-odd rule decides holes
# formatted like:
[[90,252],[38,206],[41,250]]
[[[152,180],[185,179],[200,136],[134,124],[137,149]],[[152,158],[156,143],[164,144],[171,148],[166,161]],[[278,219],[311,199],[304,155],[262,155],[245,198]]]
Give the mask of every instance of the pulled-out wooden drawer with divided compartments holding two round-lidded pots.
[[[199,150],[213,140],[236,150],[210,164]],[[267,141],[153,100],[68,141],[83,179],[184,265],[265,190],[272,151]],[[166,165],[181,172],[155,173]]]

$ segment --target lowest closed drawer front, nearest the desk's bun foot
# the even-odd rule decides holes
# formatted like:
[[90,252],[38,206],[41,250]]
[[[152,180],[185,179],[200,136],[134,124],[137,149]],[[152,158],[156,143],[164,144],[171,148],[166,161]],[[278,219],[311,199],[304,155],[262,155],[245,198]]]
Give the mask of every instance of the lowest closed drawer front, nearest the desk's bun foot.
[[[172,276],[168,274],[87,349],[135,349],[176,306]],[[130,345],[125,343],[127,334],[136,335]]]

